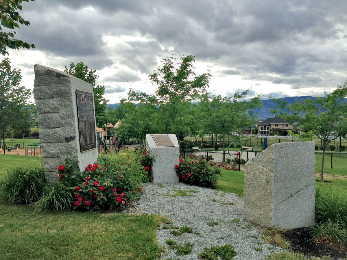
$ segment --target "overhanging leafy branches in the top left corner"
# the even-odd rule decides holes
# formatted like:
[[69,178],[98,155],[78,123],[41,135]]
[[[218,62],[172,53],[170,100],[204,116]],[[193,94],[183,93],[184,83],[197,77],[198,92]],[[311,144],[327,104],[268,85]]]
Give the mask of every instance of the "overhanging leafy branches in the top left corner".
[[[29,21],[26,21],[18,14],[16,10],[22,11],[22,5],[21,3],[29,2],[29,0],[2,0],[0,1],[0,21],[1,26],[9,28],[9,29],[15,29],[15,27],[19,28],[19,25],[16,22],[19,22],[20,24],[24,24],[26,26],[29,26]],[[34,1],[34,0],[31,0]],[[0,26],[0,47],[1,47],[1,54],[5,56],[5,54],[8,55],[8,52],[6,51],[6,47],[9,47],[11,49],[17,49],[19,48],[27,48],[30,49],[30,47],[35,48],[34,44],[29,44],[27,42],[23,42],[21,40],[15,39],[15,31],[11,31],[9,33],[3,32],[2,27]],[[12,39],[11,39],[12,38]]]

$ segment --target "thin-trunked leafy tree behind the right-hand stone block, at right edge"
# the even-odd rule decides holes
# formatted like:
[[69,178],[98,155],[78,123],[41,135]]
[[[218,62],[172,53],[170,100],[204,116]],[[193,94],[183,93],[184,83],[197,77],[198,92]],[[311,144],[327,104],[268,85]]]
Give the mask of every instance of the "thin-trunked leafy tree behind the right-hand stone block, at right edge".
[[[345,97],[347,95],[347,81],[344,85],[338,86],[331,94],[326,94],[322,98],[307,98],[298,100],[293,105],[287,101],[274,99],[278,105],[272,113],[280,115],[290,123],[296,123],[303,128],[306,135],[303,137],[317,136],[322,140],[323,156],[321,167],[321,180],[324,180],[323,167],[325,149],[330,141],[336,139],[340,135],[347,133],[347,104]],[[331,138],[329,133],[336,133]],[[312,139],[311,138],[311,139]]]

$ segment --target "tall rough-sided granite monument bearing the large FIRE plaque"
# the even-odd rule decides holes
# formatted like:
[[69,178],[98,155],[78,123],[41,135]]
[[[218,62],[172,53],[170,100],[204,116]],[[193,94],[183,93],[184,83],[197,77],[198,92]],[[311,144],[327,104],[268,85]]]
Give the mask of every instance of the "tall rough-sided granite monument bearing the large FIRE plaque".
[[36,64],[34,98],[43,167],[49,183],[65,158],[77,156],[79,170],[98,158],[93,86],[62,71]]

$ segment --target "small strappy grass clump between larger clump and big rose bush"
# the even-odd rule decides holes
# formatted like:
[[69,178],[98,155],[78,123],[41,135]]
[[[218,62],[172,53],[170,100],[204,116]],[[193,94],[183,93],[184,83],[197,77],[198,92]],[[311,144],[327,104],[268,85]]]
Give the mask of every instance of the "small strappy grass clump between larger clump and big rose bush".
[[58,211],[73,207],[73,187],[65,186],[64,182],[54,182],[47,185],[41,199],[36,202],[35,209],[38,211]]

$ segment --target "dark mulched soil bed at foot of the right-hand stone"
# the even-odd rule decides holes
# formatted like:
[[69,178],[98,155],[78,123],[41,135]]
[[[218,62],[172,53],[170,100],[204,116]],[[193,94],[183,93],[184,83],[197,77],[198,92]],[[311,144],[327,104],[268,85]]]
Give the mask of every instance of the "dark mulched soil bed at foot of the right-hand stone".
[[346,251],[339,251],[336,244],[316,243],[311,240],[309,231],[305,228],[297,228],[288,230],[283,233],[283,237],[290,242],[291,249],[295,252],[300,252],[306,257],[322,257],[323,255],[329,255],[330,257],[337,259],[347,258]]

